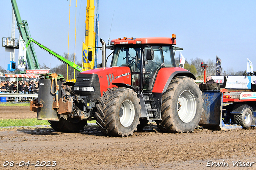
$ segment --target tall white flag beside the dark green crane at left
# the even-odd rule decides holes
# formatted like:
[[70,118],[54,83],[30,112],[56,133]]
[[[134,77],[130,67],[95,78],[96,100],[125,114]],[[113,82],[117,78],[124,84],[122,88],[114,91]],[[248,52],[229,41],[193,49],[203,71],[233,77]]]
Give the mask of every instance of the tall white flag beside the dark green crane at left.
[[18,69],[25,69],[27,65],[27,48],[20,36]]

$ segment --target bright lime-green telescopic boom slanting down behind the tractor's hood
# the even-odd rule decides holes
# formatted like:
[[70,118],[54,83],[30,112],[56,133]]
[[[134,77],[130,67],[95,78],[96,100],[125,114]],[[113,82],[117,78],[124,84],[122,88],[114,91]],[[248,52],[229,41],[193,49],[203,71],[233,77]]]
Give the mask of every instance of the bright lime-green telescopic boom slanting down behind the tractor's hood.
[[76,63],[73,63],[72,61],[67,60],[65,57],[62,57],[61,55],[57,54],[56,52],[52,51],[51,49],[47,48],[46,46],[42,45],[41,43],[37,42],[36,40],[34,40],[32,38],[30,38],[28,40],[28,42],[26,43],[26,47],[28,47],[28,45],[30,45],[31,42],[35,43],[40,48],[44,49],[45,51],[47,51],[48,53],[50,53],[54,57],[58,58],[63,63],[69,65],[70,67],[73,67],[74,69],[76,69],[79,72],[82,72],[82,67],[80,67],[79,65],[76,65]]

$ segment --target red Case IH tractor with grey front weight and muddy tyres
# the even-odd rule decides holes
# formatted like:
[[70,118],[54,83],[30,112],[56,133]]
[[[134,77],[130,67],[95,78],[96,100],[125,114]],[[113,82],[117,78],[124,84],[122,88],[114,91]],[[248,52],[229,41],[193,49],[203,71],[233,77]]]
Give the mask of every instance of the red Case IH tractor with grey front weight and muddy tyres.
[[[192,132],[202,115],[202,92],[195,77],[176,67],[172,38],[119,38],[109,47],[103,40],[102,68],[81,72],[65,92],[60,81],[41,76],[39,97],[31,108],[60,132],[76,132],[96,120],[109,136],[130,136],[152,120],[165,132]],[[113,49],[110,67],[106,48]],[[89,59],[91,55],[89,53]],[[50,92],[49,92],[50,91]]]

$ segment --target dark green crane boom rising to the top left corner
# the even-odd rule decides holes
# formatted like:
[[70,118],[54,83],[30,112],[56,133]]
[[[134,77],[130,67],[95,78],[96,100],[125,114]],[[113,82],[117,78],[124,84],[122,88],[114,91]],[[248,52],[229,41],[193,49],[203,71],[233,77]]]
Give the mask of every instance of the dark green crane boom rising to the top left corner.
[[[28,23],[24,20],[21,20],[20,12],[19,12],[16,0],[11,0],[11,2],[12,2],[12,8],[14,10],[15,17],[16,17],[18,30],[20,32],[20,36],[22,37],[24,42],[27,44],[29,38],[31,37],[28,29]],[[30,69],[40,69],[38,59],[36,57],[36,51],[34,50],[33,44],[27,47],[27,62],[28,62],[28,67]]]

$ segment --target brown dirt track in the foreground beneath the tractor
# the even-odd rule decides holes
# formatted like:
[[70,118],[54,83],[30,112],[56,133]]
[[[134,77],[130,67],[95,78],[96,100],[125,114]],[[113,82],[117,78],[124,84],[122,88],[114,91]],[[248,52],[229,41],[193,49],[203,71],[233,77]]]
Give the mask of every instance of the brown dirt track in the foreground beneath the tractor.
[[[1,117],[4,110],[0,107]],[[74,134],[55,132],[52,128],[0,129],[0,169],[35,169],[34,165],[21,167],[15,163],[51,161],[52,165],[52,161],[56,161],[54,167],[37,169],[255,170],[256,163],[248,167],[233,166],[232,163],[238,160],[256,162],[255,135],[253,128],[197,129],[194,133],[170,134],[161,132],[156,124],[149,124],[142,132],[123,138],[104,136],[97,126],[86,126],[84,131]],[[208,167],[210,160],[226,162],[229,166],[216,167],[214,164]],[[6,161],[14,161],[14,166],[3,166]]]

